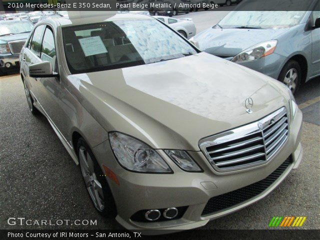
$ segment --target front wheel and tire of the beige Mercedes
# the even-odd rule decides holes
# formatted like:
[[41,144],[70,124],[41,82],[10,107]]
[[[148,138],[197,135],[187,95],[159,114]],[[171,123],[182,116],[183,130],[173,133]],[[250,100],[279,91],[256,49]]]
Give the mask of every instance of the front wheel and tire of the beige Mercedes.
[[82,137],[77,141],[76,153],[83,182],[94,208],[103,216],[115,217],[116,207],[110,187],[90,147]]

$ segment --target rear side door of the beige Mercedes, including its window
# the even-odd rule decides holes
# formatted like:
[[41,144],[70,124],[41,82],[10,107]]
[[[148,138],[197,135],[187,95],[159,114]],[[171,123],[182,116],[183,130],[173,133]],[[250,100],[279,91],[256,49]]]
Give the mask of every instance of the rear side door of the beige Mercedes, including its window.
[[30,37],[29,42],[24,48],[22,54],[23,71],[25,73],[27,84],[29,90],[36,98],[38,98],[39,96],[39,93],[37,91],[38,78],[30,77],[29,65],[40,62],[39,56],[44,29],[45,25],[39,25],[34,29],[32,36]]

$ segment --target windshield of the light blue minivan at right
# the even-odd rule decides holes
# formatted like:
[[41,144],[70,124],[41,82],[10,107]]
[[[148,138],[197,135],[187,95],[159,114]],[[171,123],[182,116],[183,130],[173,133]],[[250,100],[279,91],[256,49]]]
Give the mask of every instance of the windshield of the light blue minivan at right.
[[222,28],[285,28],[297,25],[306,11],[232,11],[219,23]]

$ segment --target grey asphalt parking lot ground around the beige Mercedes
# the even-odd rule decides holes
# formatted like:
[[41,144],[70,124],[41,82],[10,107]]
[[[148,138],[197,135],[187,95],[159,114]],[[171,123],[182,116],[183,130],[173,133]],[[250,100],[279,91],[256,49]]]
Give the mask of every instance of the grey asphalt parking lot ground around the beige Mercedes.
[[[212,26],[226,11],[198,11],[191,17],[197,32]],[[296,96],[303,112],[300,166],[267,197],[202,229],[267,229],[272,216],[306,216],[304,229],[320,225],[320,78],[304,84]],[[18,74],[0,77],[0,228],[122,229],[101,217],[90,202],[76,166],[42,115],[28,108]],[[9,217],[92,219],[96,225],[8,225]]]

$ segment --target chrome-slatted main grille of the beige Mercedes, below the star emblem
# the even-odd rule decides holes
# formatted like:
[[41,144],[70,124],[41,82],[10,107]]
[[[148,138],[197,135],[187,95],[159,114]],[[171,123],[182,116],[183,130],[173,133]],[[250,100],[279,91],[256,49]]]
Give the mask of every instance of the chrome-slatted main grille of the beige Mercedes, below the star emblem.
[[269,160],[288,137],[286,108],[262,119],[200,140],[200,148],[218,171],[230,171]]

